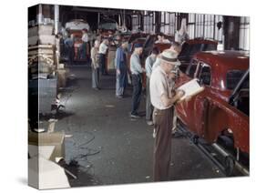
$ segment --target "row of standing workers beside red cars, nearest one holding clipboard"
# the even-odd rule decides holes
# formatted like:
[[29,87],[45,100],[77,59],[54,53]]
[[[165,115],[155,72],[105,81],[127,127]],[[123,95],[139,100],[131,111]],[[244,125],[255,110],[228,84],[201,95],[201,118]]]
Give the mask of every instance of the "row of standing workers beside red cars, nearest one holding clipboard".
[[[116,96],[125,96],[128,85],[128,42],[122,41],[116,51]],[[175,90],[175,78],[179,70],[178,60],[181,46],[174,42],[169,49],[159,53],[158,47],[153,47],[146,59],[145,68],[141,66],[140,55],[143,52],[141,44],[135,44],[135,49],[129,60],[131,74],[132,104],[130,117],[141,117],[138,113],[142,96],[142,74],[146,73],[146,120],[149,126],[154,126],[154,180],[169,180],[169,163],[171,149],[172,128],[175,127],[175,104],[184,95],[182,90]],[[108,40],[101,44],[96,40],[91,49],[92,87],[99,89],[99,68],[102,75],[106,74],[105,57],[108,49]]]

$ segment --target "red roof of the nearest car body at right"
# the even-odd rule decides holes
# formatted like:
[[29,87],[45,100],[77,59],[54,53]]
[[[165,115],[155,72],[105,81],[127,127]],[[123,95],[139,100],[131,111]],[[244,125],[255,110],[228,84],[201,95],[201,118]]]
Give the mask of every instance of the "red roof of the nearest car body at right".
[[249,52],[231,50],[204,51],[197,53],[194,57],[210,66],[221,66],[229,69],[247,69],[250,59]]

